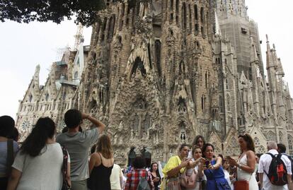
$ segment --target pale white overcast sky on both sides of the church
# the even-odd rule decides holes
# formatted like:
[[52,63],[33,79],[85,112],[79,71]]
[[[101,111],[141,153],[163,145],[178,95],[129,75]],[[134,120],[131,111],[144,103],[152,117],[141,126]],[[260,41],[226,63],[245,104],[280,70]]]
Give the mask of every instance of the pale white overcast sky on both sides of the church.
[[[274,43],[285,71],[285,81],[293,95],[293,1],[246,0],[248,16],[258,23],[262,54],[265,64],[265,34]],[[0,23],[0,115],[16,118],[18,100],[40,64],[40,85],[45,84],[52,62],[59,61],[60,50],[73,47],[77,26],[73,21],[57,25],[52,22],[20,24],[12,21]],[[91,40],[91,28],[84,28],[84,44]]]

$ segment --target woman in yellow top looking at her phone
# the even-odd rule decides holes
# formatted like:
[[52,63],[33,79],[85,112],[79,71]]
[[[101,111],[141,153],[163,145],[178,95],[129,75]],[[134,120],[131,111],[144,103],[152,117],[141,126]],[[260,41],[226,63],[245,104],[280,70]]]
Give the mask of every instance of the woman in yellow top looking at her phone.
[[162,190],[180,190],[179,173],[182,174],[188,165],[189,146],[182,144],[178,155],[171,157],[165,167],[163,167]]

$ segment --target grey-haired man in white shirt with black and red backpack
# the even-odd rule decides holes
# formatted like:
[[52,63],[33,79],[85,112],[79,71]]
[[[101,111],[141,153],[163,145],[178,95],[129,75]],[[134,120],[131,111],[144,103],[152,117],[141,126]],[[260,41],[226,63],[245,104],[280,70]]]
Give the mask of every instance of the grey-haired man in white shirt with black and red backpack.
[[268,153],[258,165],[260,187],[264,190],[293,190],[291,161],[277,152],[277,143],[268,141]]

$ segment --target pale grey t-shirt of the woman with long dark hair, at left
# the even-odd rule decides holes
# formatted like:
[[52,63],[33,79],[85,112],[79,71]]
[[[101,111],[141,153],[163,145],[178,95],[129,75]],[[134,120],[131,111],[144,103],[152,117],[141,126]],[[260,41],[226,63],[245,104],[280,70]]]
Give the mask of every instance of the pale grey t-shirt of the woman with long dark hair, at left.
[[48,144],[36,157],[18,152],[12,167],[22,172],[17,189],[59,190],[62,187],[63,153],[59,143]]

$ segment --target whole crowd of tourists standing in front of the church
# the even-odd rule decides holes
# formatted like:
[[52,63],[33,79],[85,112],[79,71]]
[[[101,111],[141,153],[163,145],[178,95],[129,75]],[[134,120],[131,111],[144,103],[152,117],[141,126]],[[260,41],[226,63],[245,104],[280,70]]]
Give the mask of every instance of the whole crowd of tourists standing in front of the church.
[[[94,127],[83,131],[85,119]],[[123,169],[115,163],[110,137],[102,134],[105,124],[76,109],[64,121],[57,135],[54,121],[40,118],[18,144],[14,120],[0,117],[1,190],[293,190],[293,162],[282,143],[268,141],[268,153],[260,155],[251,136],[241,134],[241,154],[232,158],[215,154],[212,144],[195,136],[166,165],[147,166],[137,156]]]

